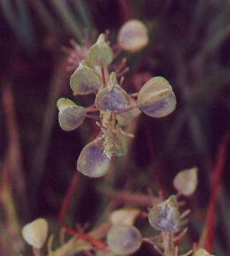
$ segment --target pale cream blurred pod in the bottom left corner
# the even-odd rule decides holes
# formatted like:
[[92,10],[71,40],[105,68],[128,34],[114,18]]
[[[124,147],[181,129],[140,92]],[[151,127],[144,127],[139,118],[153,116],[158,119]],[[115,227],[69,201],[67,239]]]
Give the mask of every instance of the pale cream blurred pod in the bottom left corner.
[[47,239],[48,223],[42,218],[35,219],[22,228],[21,234],[29,245],[41,249]]

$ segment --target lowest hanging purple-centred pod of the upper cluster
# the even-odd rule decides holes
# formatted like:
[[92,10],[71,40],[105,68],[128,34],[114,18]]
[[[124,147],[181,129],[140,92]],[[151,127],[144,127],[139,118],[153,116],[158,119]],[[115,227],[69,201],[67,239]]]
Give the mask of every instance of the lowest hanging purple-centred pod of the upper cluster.
[[104,153],[101,139],[95,139],[83,147],[77,160],[77,170],[90,176],[99,178],[107,173],[110,159]]

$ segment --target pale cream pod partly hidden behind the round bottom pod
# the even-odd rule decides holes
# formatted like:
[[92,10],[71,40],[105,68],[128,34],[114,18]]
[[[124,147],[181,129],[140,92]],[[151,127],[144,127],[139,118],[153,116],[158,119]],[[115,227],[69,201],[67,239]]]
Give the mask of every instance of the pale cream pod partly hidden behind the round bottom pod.
[[133,225],[135,219],[140,214],[139,209],[130,208],[130,209],[119,209],[112,211],[110,214],[110,221],[114,225],[123,224],[123,225]]

